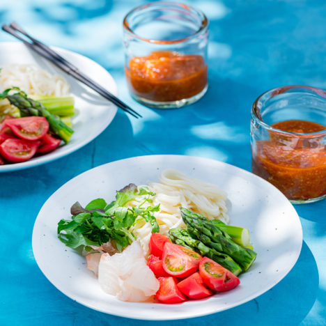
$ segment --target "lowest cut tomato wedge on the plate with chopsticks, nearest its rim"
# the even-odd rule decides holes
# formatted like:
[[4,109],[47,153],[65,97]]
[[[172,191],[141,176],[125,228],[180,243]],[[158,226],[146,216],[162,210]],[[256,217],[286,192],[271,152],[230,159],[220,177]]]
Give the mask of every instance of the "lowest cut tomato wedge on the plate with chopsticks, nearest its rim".
[[36,153],[40,141],[26,141],[24,139],[6,139],[0,144],[1,156],[13,163],[29,160]]

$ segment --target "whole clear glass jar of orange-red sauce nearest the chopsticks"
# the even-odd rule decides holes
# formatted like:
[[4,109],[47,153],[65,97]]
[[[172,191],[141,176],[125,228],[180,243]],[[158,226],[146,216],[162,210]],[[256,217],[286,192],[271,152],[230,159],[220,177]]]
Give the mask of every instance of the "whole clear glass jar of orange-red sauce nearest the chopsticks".
[[207,90],[208,20],[192,6],[153,2],[123,20],[125,77],[132,97],[150,107],[183,107]]

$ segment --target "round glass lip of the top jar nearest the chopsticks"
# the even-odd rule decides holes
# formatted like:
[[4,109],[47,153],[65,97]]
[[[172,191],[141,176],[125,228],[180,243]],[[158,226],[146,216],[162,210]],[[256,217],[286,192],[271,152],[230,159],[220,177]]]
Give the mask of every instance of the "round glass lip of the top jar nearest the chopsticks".
[[[131,15],[133,15],[134,13],[137,13],[143,9],[146,9],[151,6],[160,6],[160,5],[161,6],[180,6],[186,10],[193,11],[194,13],[198,14],[201,17],[201,26],[199,27],[199,29],[197,29],[197,31],[195,33],[192,33],[191,35],[187,36],[187,38],[181,38],[179,40],[154,40],[154,39],[149,39],[149,38],[142,38],[137,33],[134,33],[134,31],[132,31],[132,29],[130,28],[129,23],[127,22],[128,18]],[[134,36],[134,38],[138,38],[139,40],[142,40],[144,42],[169,45],[169,44],[186,42],[187,40],[191,40],[192,38],[198,36],[203,31],[206,31],[208,29],[208,18],[205,16],[205,14],[201,10],[196,9],[193,6],[189,6],[185,3],[172,2],[172,1],[156,1],[156,2],[146,3],[141,6],[137,6],[134,9],[130,10],[130,12],[127,13],[127,15],[125,15],[125,17],[123,18],[123,28],[128,33],[132,34],[132,36]]]

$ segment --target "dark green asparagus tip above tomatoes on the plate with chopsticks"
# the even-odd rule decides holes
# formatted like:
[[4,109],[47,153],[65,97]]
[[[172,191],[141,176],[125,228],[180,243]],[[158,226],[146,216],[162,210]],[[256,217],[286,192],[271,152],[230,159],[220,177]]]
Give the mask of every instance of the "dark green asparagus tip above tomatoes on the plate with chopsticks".
[[[17,91],[17,93],[9,94],[10,91]],[[65,143],[68,143],[72,133],[74,132],[68,125],[65,125],[59,118],[49,113],[40,102],[28,98],[26,93],[20,91],[19,88],[8,88],[3,93],[0,93],[0,100],[6,98],[10,104],[20,109],[23,116],[44,116],[49,123],[49,128],[59,136]]]

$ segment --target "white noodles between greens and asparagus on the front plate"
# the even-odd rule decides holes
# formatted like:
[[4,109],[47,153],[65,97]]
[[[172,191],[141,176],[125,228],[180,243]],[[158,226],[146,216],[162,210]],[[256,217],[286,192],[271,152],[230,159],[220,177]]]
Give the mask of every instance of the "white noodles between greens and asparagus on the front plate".
[[[160,183],[149,183],[148,186],[139,187],[148,187],[151,192],[155,192],[153,203],[145,203],[143,207],[160,203],[160,211],[154,212],[154,216],[160,226],[160,233],[164,235],[169,235],[170,228],[185,228],[180,214],[180,206],[198,212],[208,219],[220,219],[222,222],[228,223],[226,192],[219,189],[217,185],[188,178],[174,169],[166,169],[160,176]],[[143,196],[139,196],[134,201],[130,201],[128,205],[136,206],[142,201]],[[150,223],[139,218],[130,231],[141,242],[147,256],[149,254],[148,242],[152,232]]]

